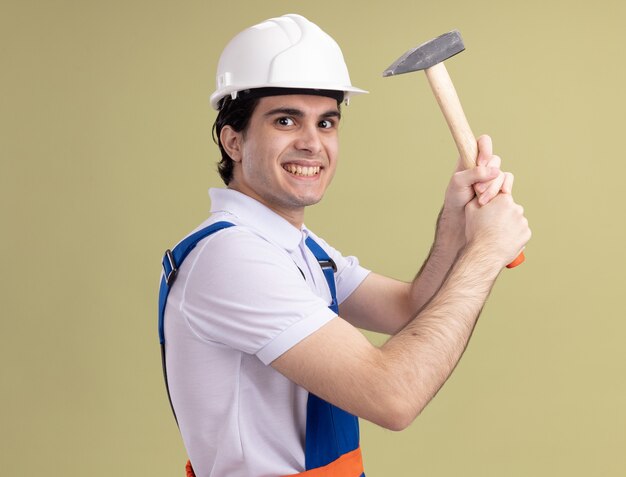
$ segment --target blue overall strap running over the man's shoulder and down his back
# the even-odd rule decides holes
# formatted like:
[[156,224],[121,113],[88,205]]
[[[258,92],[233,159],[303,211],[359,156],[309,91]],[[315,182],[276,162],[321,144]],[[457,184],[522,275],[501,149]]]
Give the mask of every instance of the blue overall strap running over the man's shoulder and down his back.
[[163,278],[161,278],[161,287],[159,288],[159,341],[161,344],[165,344],[165,304],[167,303],[167,296],[170,293],[170,287],[174,283],[174,280],[176,280],[178,268],[200,240],[218,230],[232,227],[233,225],[235,224],[231,224],[230,222],[216,222],[191,234],[176,245],[174,250],[165,251],[165,255],[163,256]]

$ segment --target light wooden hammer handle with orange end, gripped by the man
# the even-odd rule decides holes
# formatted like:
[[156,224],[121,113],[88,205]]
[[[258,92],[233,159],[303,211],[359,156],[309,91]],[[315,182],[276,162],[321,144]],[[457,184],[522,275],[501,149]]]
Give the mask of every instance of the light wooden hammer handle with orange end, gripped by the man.
[[[441,108],[441,112],[446,118],[450,132],[456,143],[456,148],[461,155],[463,166],[466,169],[476,167],[478,143],[467,122],[461,101],[459,101],[459,96],[456,93],[456,89],[454,89],[446,66],[443,62],[437,63],[435,66],[427,68],[425,72],[428,83],[439,104],[439,108]],[[507,265],[507,268],[517,267],[524,260],[524,252],[521,252],[515,260]]]

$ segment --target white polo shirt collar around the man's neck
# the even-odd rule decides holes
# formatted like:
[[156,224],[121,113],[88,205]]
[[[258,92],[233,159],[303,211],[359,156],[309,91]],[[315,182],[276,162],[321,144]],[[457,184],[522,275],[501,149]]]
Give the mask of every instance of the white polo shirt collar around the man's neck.
[[304,226],[298,230],[273,210],[236,190],[211,188],[209,196],[211,214],[234,215],[241,221],[240,225],[255,229],[288,252],[295,250],[308,235]]

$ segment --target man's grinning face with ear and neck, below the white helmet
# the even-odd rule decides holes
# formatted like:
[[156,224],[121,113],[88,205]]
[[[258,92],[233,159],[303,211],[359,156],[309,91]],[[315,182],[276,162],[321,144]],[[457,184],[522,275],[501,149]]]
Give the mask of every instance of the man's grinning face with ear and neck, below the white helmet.
[[238,150],[229,187],[300,226],[304,207],[322,199],[337,166],[340,113],[332,98],[270,96],[259,100]]

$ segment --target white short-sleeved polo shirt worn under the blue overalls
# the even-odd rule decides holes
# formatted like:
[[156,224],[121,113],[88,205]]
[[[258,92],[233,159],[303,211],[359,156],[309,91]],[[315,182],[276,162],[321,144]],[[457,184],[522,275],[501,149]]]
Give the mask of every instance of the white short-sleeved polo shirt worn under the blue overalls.
[[197,477],[302,472],[308,392],[269,365],[336,316],[304,241],[310,235],[337,264],[340,304],[369,272],[244,194],[209,193],[211,216],[198,229],[222,220],[237,226],[198,243],[165,310],[183,441]]

